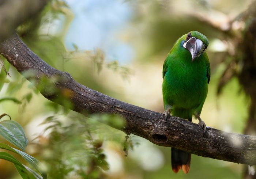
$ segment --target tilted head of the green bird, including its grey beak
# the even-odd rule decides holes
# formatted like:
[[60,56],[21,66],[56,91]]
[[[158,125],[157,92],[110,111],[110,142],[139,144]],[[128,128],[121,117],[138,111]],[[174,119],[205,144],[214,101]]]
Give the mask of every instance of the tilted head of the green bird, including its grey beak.
[[183,35],[182,38],[184,40],[182,46],[191,53],[192,61],[196,57],[200,57],[209,44],[208,39],[197,31],[191,31]]

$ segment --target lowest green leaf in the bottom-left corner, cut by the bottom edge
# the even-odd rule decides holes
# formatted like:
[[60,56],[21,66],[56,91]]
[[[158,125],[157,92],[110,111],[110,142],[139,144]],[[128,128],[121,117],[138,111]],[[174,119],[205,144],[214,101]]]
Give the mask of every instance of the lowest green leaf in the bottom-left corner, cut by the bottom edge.
[[14,164],[15,168],[19,172],[23,179],[42,179],[42,176],[37,174],[31,168],[27,167],[15,159],[12,155],[6,152],[0,152],[0,159],[10,161]]

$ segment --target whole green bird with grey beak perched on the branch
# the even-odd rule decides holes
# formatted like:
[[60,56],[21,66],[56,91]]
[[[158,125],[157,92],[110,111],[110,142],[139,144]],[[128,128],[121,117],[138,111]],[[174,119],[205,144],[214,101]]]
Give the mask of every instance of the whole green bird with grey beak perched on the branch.
[[[200,118],[208,92],[211,70],[205,52],[208,39],[197,31],[182,35],[163,63],[163,105],[166,119],[169,114],[192,121],[199,119],[203,132],[206,125]],[[172,148],[172,170],[185,174],[190,169],[191,153]]]

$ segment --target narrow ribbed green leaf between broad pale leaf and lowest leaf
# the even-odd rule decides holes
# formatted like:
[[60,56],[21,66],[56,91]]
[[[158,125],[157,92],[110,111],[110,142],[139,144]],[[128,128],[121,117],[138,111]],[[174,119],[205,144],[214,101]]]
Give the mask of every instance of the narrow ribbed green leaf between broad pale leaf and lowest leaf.
[[14,152],[14,153],[17,153],[19,154],[20,156],[22,156],[25,160],[27,160],[27,162],[29,162],[29,164],[34,167],[42,176],[43,178],[46,178],[46,174],[41,172],[40,169],[39,169],[39,166],[38,164],[40,163],[37,159],[35,159],[34,157],[30,156],[29,154],[25,153],[25,152],[22,152],[18,149],[15,149],[15,148],[12,148],[10,147],[9,145],[7,144],[4,144],[4,143],[0,143],[0,148],[1,149],[6,149],[8,151],[11,151],[11,152]]

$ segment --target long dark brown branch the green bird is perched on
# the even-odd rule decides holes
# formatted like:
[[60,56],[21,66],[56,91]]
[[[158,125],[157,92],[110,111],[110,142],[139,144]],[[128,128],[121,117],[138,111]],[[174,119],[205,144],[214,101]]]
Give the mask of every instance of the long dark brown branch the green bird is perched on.
[[[0,44],[0,52],[19,71],[33,71],[40,83],[42,76],[53,78],[62,76],[62,80],[53,83],[60,91],[69,91],[69,100],[74,104],[72,110],[84,114],[111,113],[121,115],[126,125],[125,133],[146,138],[154,144],[182,149],[190,153],[213,159],[256,164],[256,136],[227,133],[207,127],[205,136],[200,127],[192,122],[178,117],[170,117],[150,111],[132,104],[124,103],[109,96],[94,91],[77,83],[66,73],[52,68],[34,54],[17,36]],[[41,90],[41,94],[54,100],[58,94],[49,94]]]

